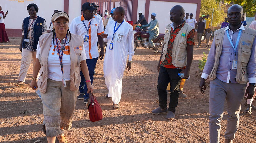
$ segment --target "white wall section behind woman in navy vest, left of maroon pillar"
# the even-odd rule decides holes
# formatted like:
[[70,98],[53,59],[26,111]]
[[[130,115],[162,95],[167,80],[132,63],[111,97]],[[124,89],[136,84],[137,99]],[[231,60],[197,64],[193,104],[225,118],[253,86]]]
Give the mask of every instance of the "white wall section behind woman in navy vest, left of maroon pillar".
[[22,29],[23,19],[29,16],[27,6],[31,3],[34,3],[38,6],[37,16],[40,16],[46,20],[48,29],[54,10],[64,10],[64,1],[60,0],[31,0],[23,1],[23,3],[19,3],[18,1],[1,0],[0,5],[2,6],[4,13],[8,10],[8,14],[4,19],[5,28]]

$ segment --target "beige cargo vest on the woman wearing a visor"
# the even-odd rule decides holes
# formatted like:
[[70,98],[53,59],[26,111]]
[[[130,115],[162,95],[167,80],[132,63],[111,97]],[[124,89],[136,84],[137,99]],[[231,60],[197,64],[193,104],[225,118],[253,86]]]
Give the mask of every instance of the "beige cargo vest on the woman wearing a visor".
[[[46,33],[40,36],[39,45],[41,47],[41,51],[39,54],[39,62],[41,64],[41,69],[39,71],[40,76],[37,81],[37,85],[41,93],[46,92],[46,84],[48,78],[48,55],[49,48],[52,42],[52,32]],[[70,60],[71,60],[71,69],[70,69],[70,90],[75,91],[78,89],[80,85],[80,55],[82,50],[74,50],[78,48],[83,48],[83,37],[80,35],[71,34],[71,40],[69,42],[69,51],[70,51]],[[58,57],[59,59],[59,57]],[[65,72],[65,71],[64,71]],[[61,73],[60,73],[61,74]]]

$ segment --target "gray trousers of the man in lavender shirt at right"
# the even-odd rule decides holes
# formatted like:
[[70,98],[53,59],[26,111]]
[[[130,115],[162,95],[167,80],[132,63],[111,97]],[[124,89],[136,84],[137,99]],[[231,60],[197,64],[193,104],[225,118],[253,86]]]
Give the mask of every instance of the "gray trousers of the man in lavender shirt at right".
[[238,130],[241,101],[244,99],[246,84],[232,84],[219,79],[210,80],[209,128],[210,143],[220,143],[220,121],[222,120],[224,102],[227,100],[227,130],[225,139],[233,140]]

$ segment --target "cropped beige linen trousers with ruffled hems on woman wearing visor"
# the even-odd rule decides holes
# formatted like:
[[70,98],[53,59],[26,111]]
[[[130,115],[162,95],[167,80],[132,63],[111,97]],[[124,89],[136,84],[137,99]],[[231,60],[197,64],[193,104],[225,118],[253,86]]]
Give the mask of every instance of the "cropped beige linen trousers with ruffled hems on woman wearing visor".
[[69,130],[72,126],[78,89],[71,91],[70,81],[66,81],[66,84],[67,87],[63,87],[62,81],[48,78],[46,92],[41,93],[44,114],[42,129],[47,137],[61,135],[63,131],[60,128]]

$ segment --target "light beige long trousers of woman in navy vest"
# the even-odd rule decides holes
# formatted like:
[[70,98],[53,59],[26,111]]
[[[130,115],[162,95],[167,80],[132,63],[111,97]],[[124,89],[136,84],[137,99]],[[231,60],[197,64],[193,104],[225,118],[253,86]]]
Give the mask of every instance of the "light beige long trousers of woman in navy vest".
[[31,59],[33,59],[33,66],[34,66],[34,63],[36,61],[36,52],[29,51],[27,49],[22,49],[22,57],[21,57],[18,81],[25,82],[28,68],[31,64]]

